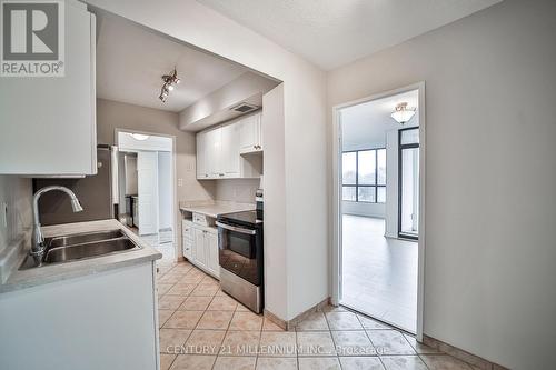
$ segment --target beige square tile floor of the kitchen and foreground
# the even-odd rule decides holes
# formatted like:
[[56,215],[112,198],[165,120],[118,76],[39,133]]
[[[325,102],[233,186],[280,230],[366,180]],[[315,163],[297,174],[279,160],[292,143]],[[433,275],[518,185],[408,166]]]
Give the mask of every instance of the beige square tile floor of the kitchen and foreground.
[[341,307],[284,331],[188,262],[159,266],[158,296],[162,370],[473,369]]

